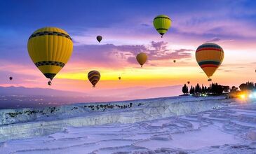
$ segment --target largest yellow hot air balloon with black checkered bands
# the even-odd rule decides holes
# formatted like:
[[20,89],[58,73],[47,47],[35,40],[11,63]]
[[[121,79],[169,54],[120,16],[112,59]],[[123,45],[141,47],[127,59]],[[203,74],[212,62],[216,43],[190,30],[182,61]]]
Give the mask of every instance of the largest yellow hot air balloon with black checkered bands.
[[71,57],[73,42],[66,31],[57,27],[44,27],[29,37],[27,50],[43,75],[53,80]]

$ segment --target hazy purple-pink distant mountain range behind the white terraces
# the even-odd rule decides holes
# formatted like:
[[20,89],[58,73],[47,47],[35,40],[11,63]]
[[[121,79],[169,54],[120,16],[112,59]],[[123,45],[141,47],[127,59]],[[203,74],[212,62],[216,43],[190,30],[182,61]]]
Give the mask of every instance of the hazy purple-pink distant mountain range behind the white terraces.
[[15,106],[56,106],[81,102],[113,102],[130,99],[171,97],[181,94],[182,85],[166,87],[127,87],[93,90],[93,93],[71,92],[39,87],[0,87],[0,109]]

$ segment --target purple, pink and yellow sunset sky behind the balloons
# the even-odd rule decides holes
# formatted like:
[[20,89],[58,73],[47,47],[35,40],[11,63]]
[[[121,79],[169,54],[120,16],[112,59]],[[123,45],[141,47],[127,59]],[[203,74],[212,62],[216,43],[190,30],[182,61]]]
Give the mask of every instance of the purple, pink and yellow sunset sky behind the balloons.
[[[163,38],[152,25],[161,14],[173,21]],[[1,0],[0,86],[49,88],[27,52],[29,36],[42,27],[65,29],[74,43],[72,57],[50,87],[57,90],[93,92],[87,78],[91,70],[101,73],[100,90],[184,85],[188,80],[208,85],[195,59],[196,48],[206,42],[224,50],[213,82],[238,86],[256,79],[253,0]],[[103,36],[100,43],[97,35]],[[139,52],[149,56],[142,68],[135,59]]]

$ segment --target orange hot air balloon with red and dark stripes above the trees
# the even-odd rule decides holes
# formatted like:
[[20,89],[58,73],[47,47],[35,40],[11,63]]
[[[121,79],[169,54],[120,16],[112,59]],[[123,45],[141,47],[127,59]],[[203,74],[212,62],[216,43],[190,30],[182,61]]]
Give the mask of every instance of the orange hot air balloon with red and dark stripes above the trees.
[[204,43],[196,49],[196,61],[209,79],[222,64],[223,58],[223,49],[215,43]]

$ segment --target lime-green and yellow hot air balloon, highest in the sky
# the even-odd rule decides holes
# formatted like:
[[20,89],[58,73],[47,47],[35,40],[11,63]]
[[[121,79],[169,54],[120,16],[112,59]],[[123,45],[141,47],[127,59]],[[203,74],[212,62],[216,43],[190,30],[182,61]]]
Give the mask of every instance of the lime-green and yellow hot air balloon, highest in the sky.
[[161,37],[163,37],[163,34],[168,31],[170,28],[170,25],[172,23],[172,20],[167,15],[158,15],[156,18],[154,18],[153,25],[155,29],[159,32]]

